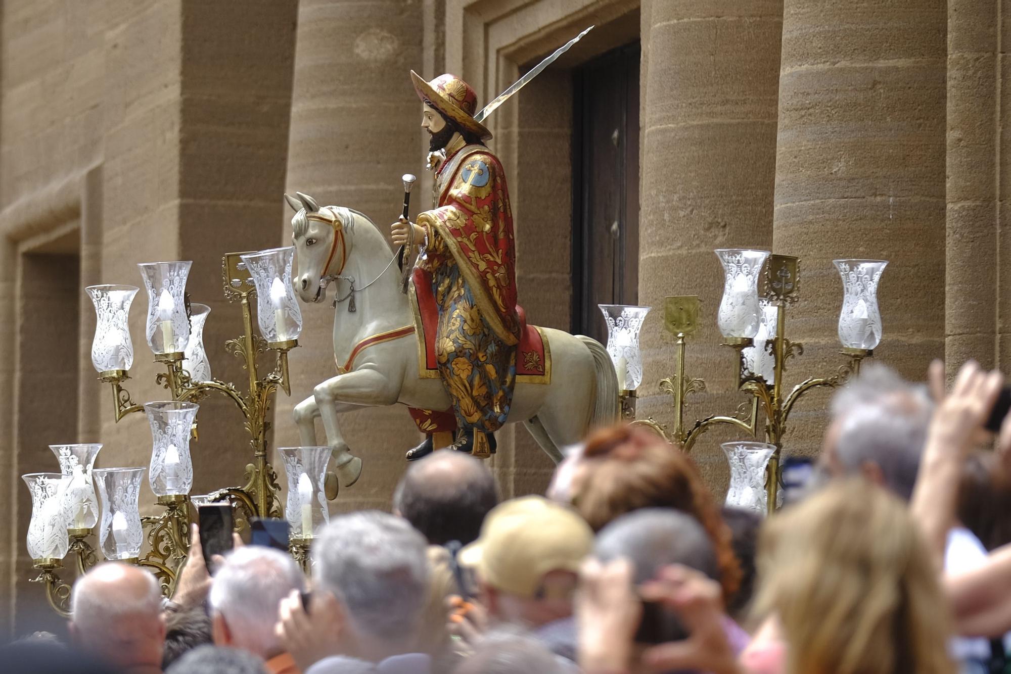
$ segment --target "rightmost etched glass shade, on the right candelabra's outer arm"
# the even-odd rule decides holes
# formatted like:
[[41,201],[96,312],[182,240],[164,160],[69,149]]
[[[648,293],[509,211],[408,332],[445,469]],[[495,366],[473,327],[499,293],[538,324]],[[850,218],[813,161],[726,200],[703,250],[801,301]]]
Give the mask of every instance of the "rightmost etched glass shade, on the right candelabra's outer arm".
[[874,349],[882,341],[882,314],[878,310],[878,282],[885,260],[833,260],[842,277],[842,310],[839,342],[849,349]]

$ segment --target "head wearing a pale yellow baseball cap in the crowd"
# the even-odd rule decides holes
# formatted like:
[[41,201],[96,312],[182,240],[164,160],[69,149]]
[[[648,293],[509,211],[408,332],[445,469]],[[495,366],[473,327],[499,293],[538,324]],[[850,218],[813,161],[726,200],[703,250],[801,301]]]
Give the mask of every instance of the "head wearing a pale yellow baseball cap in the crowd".
[[497,620],[539,627],[572,614],[572,596],[593,533],[571,508],[541,496],[495,506],[460,551],[482,603]]

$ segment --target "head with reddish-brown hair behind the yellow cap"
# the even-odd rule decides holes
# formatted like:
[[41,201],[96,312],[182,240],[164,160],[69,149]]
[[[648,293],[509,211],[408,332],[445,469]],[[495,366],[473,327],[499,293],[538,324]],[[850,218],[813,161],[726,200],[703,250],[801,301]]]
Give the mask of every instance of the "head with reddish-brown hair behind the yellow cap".
[[590,436],[579,463],[570,496],[594,531],[640,508],[673,508],[692,515],[716,551],[724,597],[733,596],[740,568],[730,529],[687,455],[650,430],[619,425]]

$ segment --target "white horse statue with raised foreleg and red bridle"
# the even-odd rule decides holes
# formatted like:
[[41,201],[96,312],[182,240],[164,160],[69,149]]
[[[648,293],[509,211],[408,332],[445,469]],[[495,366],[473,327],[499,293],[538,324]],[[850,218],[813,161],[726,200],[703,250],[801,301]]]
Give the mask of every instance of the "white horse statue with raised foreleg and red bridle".
[[[296,194],[297,200],[284,195],[296,211],[291,218],[298,260],[295,291],[303,302],[320,302],[328,285],[336,282],[334,357],[338,364],[347,364],[356,347],[370,338],[412,326],[413,309],[391,264],[394,254],[368,217],[339,206],[319,208],[311,197]],[[523,421],[557,463],[560,447],[580,441],[593,426],[617,420],[618,380],[599,342],[548,327],[542,334],[552,359],[551,383],[518,381],[509,422]],[[398,402],[434,410],[452,404],[441,379],[419,376],[416,340],[409,333],[359,349],[347,372],[321,382],[311,397],[295,406],[303,445],[316,445],[313,419],[321,418],[341,486],[354,484],[362,471],[362,460],[351,454],[341,434],[342,412]]]

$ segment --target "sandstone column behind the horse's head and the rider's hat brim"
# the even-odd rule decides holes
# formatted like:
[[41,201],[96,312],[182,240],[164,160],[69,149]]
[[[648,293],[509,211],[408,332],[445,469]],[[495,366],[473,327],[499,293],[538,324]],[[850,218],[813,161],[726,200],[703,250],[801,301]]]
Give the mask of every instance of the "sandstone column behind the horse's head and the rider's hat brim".
[[[421,174],[425,164],[421,103],[409,76],[411,68],[422,67],[422,14],[421,3],[399,0],[300,3],[289,193],[297,190],[320,204],[350,206],[383,229],[399,215],[400,176]],[[411,215],[427,208],[429,194],[419,190]],[[280,227],[285,239],[291,236],[290,216],[287,210]],[[291,398],[279,401],[276,414],[279,446],[298,442],[293,404],[337,374],[334,309],[329,302],[302,305],[302,346],[291,353]],[[363,459],[364,470],[356,485],[342,491],[339,509],[389,507],[404,469],[403,453],[421,441],[406,409],[398,405],[344,414],[342,430],[352,452]],[[321,424],[316,431],[324,443]]]

